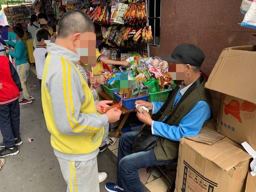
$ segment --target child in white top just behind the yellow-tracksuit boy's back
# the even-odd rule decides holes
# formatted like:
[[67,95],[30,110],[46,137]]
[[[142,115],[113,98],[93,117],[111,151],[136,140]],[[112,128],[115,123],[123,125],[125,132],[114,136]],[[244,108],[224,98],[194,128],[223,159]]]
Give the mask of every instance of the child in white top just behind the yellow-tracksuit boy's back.
[[42,76],[44,72],[45,54],[47,52],[47,49],[45,48],[46,43],[44,41],[49,40],[51,38],[51,35],[47,30],[41,29],[36,33],[36,38],[38,40],[38,46],[36,46],[33,55],[36,63],[36,76],[38,78],[41,89]]

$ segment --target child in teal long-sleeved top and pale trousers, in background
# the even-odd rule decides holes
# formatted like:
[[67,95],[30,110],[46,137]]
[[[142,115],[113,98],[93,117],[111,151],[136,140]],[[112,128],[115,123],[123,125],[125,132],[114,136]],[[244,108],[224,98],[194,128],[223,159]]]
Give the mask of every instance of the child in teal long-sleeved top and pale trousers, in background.
[[16,59],[17,72],[20,77],[20,82],[23,89],[22,93],[24,97],[20,101],[20,105],[24,105],[32,103],[32,100],[34,99],[33,96],[30,96],[28,92],[28,87],[26,85],[29,73],[29,63],[26,51],[26,44],[22,40],[24,36],[24,30],[19,26],[14,26],[12,30],[16,34],[16,43],[12,41],[7,41],[6,44],[9,44],[10,46],[14,47],[14,52],[6,50],[6,53]]

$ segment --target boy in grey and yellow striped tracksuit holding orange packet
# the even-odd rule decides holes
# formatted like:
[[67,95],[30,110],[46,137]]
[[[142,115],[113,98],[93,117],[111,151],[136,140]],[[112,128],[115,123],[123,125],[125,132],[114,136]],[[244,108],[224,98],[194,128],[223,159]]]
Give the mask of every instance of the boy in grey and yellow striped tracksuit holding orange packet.
[[[112,101],[95,105],[88,84],[76,68],[80,56],[86,56],[81,50],[88,49],[88,36],[95,38],[90,18],[80,10],[71,10],[58,25],[55,44],[47,45],[42,78],[46,125],[67,192],[100,192],[96,156],[103,126],[118,121],[121,111],[112,109],[100,114],[100,106],[108,106]],[[81,40],[84,43],[80,45]]]

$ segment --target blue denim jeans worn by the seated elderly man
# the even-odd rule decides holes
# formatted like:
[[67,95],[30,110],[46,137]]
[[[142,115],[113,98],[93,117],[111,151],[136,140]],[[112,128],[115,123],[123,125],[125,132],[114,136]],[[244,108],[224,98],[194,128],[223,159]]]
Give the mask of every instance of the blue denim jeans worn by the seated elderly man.
[[164,165],[177,161],[157,161],[154,149],[132,153],[132,145],[140,131],[123,134],[118,146],[117,184],[124,192],[143,192],[138,170],[150,166]]

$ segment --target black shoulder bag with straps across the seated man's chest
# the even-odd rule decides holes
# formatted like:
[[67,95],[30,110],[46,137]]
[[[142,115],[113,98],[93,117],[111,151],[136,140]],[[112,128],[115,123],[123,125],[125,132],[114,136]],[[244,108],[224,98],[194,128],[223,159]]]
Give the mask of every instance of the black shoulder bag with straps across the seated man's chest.
[[[172,110],[171,114],[169,114],[166,119],[163,121],[163,123],[166,123],[170,116],[175,112],[175,110],[180,106],[180,104],[185,100],[185,98],[193,91],[195,90],[202,82],[204,81],[204,77],[201,75],[189,88],[186,90],[180,101],[174,106],[174,109]],[[152,116],[152,120],[157,121],[161,115],[163,114],[164,110],[166,110],[168,103],[172,100],[172,98],[176,95],[178,92],[179,87],[177,86],[173,91],[172,94],[168,97],[164,105],[160,108],[160,110]],[[156,144],[158,143],[158,137],[157,135],[153,135],[151,131],[151,127],[146,125],[142,130],[140,131],[140,134],[135,138],[134,144],[132,146],[132,150],[134,153],[140,152],[140,151],[148,151]]]

